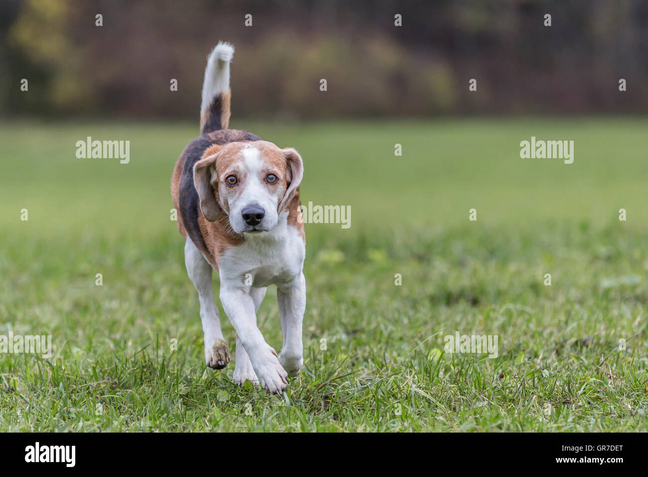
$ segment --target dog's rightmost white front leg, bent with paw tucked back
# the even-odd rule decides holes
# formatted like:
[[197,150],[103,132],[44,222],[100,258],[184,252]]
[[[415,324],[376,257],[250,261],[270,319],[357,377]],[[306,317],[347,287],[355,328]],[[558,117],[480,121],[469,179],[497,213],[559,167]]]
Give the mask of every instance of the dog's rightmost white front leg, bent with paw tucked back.
[[304,362],[301,323],[306,310],[306,279],[303,273],[291,282],[277,286],[277,302],[283,331],[279,362],[289,376],[297,376]]

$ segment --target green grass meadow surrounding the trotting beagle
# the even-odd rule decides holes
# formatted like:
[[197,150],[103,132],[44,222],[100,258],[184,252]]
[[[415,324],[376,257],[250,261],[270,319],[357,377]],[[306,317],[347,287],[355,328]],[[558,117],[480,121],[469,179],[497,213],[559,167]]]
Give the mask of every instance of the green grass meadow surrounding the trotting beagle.
[[[0,430],[647,430],[648,119],[233,127],[297,147],[303,202],[351,206],[307,225],[301,378],[276,397],[203,363],[168,185],[195,124],[3,123],[0,335],[54,357],[0,354]],[[130,164],[77,159],[86,136]],[[520,159],[531,136],[573,164]],[[259,323],[279,349],[272,287]],[[497,358],[445,352],[455,332]]]

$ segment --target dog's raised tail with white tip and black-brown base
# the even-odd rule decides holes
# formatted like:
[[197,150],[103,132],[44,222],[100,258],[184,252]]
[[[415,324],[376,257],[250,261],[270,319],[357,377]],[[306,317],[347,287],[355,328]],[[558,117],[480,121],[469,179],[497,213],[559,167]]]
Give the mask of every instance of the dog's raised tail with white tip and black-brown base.
[[229,125],[229,62],[233,56],[233,45],[218,42],[207,57],[200,104],[200,134],[227,129]]

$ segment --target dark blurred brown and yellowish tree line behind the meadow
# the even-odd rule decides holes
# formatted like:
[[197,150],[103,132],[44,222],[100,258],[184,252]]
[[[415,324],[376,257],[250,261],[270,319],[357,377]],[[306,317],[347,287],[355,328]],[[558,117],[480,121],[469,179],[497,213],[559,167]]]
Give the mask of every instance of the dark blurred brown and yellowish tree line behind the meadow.
[[0,111],[195,119],[218,40],[235,117],[648,109],[646,0],[3,0]]

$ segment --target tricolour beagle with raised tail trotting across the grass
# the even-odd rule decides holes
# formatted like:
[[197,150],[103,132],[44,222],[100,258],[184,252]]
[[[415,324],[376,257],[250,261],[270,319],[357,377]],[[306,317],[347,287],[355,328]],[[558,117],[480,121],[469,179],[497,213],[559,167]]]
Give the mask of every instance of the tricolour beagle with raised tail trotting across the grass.
[[[229,363],[229,348],[214,303],[212,270],[220,275],[220,301],[236,330],[233,378],[280,394],[303,364],[301,326],[306,308],[303,263],[306,237],[300,219],[304,173],[295,149],[243,130],[228,129],[229,66],[234,47],[219,42],[207,57],[200,106],[200,138],[180,154],[171,195],[185,238],[185,265],[198,291],[205,362]],[[283,347],[277,352],[257,327],[266,288],[277,286]]]

